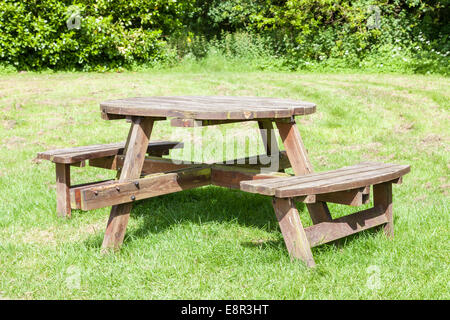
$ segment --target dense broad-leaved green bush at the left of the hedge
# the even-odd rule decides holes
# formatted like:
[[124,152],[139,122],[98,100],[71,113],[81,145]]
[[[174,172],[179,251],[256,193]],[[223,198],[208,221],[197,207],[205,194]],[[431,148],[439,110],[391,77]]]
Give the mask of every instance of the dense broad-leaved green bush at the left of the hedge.
[[177,16],[184,7],[170,0],[4,0],[0,61],[25,70],[155,63],[164,58],[163,33],[182,26]]

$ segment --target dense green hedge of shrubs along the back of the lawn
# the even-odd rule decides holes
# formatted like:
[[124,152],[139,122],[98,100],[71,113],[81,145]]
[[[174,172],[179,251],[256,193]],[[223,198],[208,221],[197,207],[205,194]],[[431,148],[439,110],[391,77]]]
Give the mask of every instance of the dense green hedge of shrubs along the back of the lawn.
[[[2,0],[0,64],[111,70],[211,57],[267,69],[449,73],[449,0]],[[80,28],[69,29],[73,13]]]

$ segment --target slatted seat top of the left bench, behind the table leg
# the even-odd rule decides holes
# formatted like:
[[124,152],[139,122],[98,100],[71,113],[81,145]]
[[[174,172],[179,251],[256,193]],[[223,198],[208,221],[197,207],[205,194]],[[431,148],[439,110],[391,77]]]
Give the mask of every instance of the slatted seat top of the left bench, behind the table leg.
[[[110,144],[96,144],[75,148],[49,150],[37,154],[38,159],[50,160],[55,163],[76,164],[77,162],[122,154],[125,142]],[[176,141],[150,141],[147,146],[149,154],[164,154],[170,149],[183,148],[183,144]]]

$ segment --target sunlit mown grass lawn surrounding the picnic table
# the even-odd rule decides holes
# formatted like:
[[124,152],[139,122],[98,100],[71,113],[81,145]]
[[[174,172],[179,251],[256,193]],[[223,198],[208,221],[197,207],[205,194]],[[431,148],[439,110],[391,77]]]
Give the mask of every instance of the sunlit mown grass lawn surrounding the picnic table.
[[[449,85],[437,76],[207,70],[0,76],[0,297],[449,299]],[[34,158],[125,140],[129,124],[101,120],[99,103],[151,95],[315,102],[315,114],[298,117],[315,170],[368,160],[411,165],[393,188],[395,239],[375,230],[313,248],[317,267],[308,269],[290,261],[270,198],[211,186],[138,202],[121,251],[100,254],[110,209],[57,218],[54,166]],[[242,129],[261,147],[255,123],[214,131],[158,122],[152,138],[199,151],[198,136],[211,132],[203,156],[194,154],[211,160],[221,147],[214,134]],[[85,167],[72,176],[75,184],[114,173]],[[334,217],[355,211],[330,208]]]

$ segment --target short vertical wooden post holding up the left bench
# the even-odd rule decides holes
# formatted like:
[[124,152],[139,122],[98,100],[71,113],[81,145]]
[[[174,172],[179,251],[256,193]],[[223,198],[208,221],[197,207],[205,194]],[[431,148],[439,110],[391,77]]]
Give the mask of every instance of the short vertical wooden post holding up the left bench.
[[70,218],[70,165],[56,164],[56,212],[60,217]]

